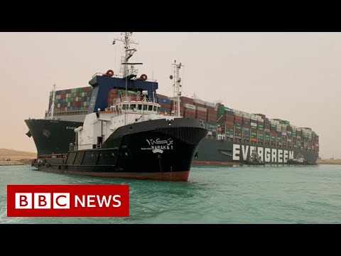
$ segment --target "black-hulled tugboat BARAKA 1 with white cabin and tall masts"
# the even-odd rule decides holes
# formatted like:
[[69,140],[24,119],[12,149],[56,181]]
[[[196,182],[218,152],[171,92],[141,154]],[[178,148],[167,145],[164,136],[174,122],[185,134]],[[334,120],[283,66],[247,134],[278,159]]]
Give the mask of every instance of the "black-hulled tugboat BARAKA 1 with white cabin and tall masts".
[[[90,108],[84,124],[75,129],[75,142],[70,142],[70,150],[67,154],[40,155],[32,166],[60,174],[188,181],[197,146],[207,129],[200,119],[181,117],[180,107],[175,107],[172,115],[161,114],[161,105],[153,97],[155,91],[142,90],[147,86],[147,76],[137,78],[134,65],[141,63],[128,63],[136,51],[129,47],[131,34],[126,32],[123,39],[117,39],[124,42],[125,48],[123,78],[113,78],[114,73],[108,70],[90,80],[93,87]],[[177,93],[174,100],[178,105],[181,66],[176,61],[173,64]],[[115,87],[122,83],[126,93],[106,107],[103,92],[111,87],[108,89],[104,84]]]

